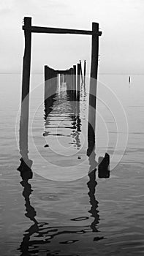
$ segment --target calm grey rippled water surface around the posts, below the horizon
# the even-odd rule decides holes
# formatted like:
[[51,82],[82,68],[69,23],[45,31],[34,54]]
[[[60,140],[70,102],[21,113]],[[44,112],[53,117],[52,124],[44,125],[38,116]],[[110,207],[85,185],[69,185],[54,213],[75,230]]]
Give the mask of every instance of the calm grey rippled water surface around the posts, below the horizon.
[[[88,176],[86,156],[87,89],[82,88],[80,105],[63,90],[45,110],[43,85],[35,89],[42,79],[31,78],[33,178],[22,181],[17,170],[21,78],[0,75],[1,256],[143,255],[144,76],[132,75],[129,85],[128,75],[99,75],[124,107],[129,139],[118,165],[113,159],[110,163],[110,178],[98,178],[96,172],[95,179]],[[112,158],[115,147],[115,155],[121,156],[123,148],[116,146],[116,138],[126,133],[122,121],[117,132],[112,113],[100,101],[98,110],[96,162],[105,151]]]

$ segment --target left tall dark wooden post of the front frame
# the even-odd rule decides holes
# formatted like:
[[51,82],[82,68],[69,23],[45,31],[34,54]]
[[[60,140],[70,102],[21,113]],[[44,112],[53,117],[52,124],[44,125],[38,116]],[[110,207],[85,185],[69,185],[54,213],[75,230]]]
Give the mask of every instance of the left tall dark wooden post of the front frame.
[[[24,26],[31,26],[31,18],[24,18]],[[20,154],[23,159],[27,158],[28,131],[29,131],[29,80],[31,69],[31,31],[24,30],[25,50],[23,56],[23,80],[20,116]]]

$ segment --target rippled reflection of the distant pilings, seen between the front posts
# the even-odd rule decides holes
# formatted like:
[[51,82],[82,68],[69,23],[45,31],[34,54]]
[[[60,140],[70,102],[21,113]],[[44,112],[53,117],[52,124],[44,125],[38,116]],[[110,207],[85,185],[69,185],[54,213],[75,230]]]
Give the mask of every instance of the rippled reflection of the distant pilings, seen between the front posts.
[[[80,102],[75,100],[72,90],[67,90],[64,83],[60,86],[61,91],[56,91],[45,99],[45,133],[44,136],[60,136],[66,138],[67,143],[74,148],[80,149]],[[47,93],[48,94],[48,93]],[[72,142],[69,138],[72,138]]]

